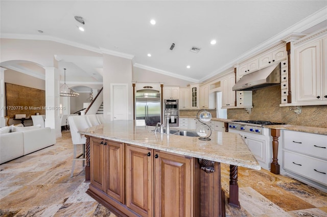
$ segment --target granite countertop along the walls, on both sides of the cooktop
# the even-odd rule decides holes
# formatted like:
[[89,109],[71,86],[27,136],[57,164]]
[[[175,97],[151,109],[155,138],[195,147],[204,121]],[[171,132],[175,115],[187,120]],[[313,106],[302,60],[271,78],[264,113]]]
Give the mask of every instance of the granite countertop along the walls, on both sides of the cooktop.
[[[195,117],[181,116],[181,118],[195,118]],[[233,120],[237,120],[237,119],[212,118],[212,121],[221,121],[221,122],[231,122]],[[310,133],[327,135],[327,128],[323,128],[323,127],[298,126],[298,125],[291,125],[291,124],[264,125],[263,127],[270,128],[270,129],[282,129],[282,130],[285,129],[285,130],[310,132]]]

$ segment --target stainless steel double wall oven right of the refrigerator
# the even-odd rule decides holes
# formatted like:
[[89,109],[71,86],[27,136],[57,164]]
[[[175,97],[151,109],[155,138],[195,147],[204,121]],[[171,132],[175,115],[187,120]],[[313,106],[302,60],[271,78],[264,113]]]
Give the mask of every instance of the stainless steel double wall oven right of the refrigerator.
[[164,126],[167,126],[167,119],[169,118],[170,127],[179,126],[179,107],[178,99],[165,99],[164,100]]

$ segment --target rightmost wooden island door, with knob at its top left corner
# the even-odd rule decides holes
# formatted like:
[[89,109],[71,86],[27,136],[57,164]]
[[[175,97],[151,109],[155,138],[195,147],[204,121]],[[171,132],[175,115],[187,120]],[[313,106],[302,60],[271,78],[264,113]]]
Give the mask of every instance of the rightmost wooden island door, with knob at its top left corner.
[[194,158],[154,151],[154,216],[193,216]]

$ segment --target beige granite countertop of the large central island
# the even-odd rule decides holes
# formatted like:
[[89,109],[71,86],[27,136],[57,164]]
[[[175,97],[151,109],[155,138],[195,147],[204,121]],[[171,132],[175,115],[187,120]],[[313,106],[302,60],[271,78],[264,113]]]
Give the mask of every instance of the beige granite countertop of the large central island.
[[[222,162],[255,170],[261,167],[239,133],[212,131],[211,141],[198,137],[151,132],[154,126],[136,126],[134,120],[112,121],[79,131],[98,138]],[[171,127],[173,129],[173,127]]]

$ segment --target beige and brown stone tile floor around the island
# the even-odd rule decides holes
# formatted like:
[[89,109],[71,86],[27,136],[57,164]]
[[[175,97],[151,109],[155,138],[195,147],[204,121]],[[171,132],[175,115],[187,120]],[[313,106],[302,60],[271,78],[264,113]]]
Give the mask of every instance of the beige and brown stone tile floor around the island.
[[[0,216],[115,216],[85,191],[84,169],[76,163],[69,131],[54,146],[0,165]],[[222,165],[228,197],[229,166]],[[241,208],[226,216],[327,216],[327,193],[266,170],[239,168]]]

